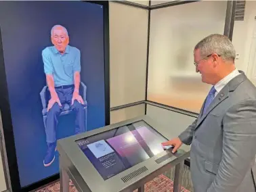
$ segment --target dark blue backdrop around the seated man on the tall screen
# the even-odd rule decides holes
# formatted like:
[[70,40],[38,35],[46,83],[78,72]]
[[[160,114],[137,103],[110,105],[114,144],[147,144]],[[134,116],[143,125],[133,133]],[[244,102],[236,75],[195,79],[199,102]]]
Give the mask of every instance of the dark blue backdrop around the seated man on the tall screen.
[[[87,85],[87,130],[105,125],[104,18],[100,5],[81,1],[0,1],[0,28],[18,170],[22,187],[59,172],[58,157],[43,166],[45,128],[39,93],[46,85],[41,51],[52,46],[50,30],[61,24],[81,51]],[[74,134],[74,116],[62,116],[58,139]]]

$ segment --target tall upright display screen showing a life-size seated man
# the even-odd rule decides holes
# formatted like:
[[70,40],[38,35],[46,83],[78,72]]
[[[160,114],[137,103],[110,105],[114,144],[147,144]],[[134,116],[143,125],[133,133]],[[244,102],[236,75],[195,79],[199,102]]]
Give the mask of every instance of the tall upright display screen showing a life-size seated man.
[[58,139],[106,125],[104,7],[0,1],[0,28],[12,145],[26,187],[59,173]]

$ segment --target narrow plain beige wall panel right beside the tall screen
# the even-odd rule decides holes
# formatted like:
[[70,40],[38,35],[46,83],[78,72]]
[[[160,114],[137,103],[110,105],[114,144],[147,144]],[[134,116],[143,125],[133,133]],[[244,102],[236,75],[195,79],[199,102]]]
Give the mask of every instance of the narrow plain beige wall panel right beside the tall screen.
[[145,99],[148,10],[110,2],[110,107]]

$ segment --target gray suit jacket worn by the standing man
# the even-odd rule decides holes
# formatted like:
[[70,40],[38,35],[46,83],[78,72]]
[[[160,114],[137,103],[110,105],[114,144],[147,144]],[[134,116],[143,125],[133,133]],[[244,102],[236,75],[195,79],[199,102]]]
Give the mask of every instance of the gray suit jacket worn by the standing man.
[[[203,109],[203,107],[202,107]],[[191,145],[195,192],[255,192],[256,88],[243,72],[179,139]]]

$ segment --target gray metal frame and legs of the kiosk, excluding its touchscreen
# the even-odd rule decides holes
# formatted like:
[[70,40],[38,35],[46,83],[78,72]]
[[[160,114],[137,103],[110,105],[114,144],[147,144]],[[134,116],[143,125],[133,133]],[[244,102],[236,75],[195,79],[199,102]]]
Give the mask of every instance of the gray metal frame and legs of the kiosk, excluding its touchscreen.
[[[150,124],[154,130],[157,130],[158,133],[161,133],[161,129],[158,129],[158,126],[152,120],[144,116],[143,118],[127,120],[93,130],[89,133],[59,140],[57,149],[60,154],[60,191],[69,191],[69,179],[71,179],[77,191],[80,192],[133,192],[135,189],[138,192],[144,192],[144,185],[146,183],[173,167],[175,167],[173,192],[182,191],[181,183],[184,161],[189,157],[189,151],[179,149],[176,153],[171,153],[171,150],[166,150],[119,172],[119,174],[103,179],[100,172],[95,169],[77,143],[75,143],[80,141],[79,139],[88,138],[99,133],[106,133],[108,130],[124,126],[125,124],[131,124],[138,120],[143,120]],[[161,135],[165,134],[161,133]],[[102,139],[100,138],[100,140]],[[87,142],[87,140],[83,141]]]

